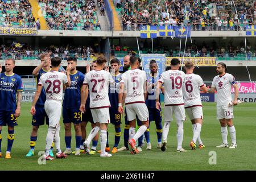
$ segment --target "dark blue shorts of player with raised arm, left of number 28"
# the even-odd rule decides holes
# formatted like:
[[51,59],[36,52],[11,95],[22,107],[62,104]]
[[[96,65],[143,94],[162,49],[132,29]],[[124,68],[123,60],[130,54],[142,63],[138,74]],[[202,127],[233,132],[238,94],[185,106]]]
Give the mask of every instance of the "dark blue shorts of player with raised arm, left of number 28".
[[32,116],[32,126],[41,126],[44,125],[44,121],[46,121],[46,125],[49,125],[49,118],[46,114],[46,110],[44,110],[44,106],[35,105],[36,113]]

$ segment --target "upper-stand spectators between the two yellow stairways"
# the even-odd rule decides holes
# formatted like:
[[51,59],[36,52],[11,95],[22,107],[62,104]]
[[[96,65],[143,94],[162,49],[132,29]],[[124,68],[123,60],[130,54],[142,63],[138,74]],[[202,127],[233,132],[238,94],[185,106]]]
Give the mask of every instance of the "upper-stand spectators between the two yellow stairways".
[[100,30],[93,0],[39,0],[50,30]]

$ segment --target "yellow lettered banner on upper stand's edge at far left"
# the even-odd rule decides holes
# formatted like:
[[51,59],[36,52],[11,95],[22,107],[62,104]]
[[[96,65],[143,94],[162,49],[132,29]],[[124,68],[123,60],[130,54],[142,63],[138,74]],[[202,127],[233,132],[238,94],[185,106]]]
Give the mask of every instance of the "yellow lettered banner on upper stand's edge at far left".
[[37,35],[36,28],[0,27],[0,35]]

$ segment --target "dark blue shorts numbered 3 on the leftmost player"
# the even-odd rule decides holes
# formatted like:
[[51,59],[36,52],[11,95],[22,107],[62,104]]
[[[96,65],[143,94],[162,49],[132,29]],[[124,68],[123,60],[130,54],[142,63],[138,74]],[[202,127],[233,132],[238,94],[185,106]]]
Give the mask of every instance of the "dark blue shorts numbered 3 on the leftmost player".
[[0,126],[17,126],[18,125],[18,118],[15,117],[15,110],[11,111],[0,111]]

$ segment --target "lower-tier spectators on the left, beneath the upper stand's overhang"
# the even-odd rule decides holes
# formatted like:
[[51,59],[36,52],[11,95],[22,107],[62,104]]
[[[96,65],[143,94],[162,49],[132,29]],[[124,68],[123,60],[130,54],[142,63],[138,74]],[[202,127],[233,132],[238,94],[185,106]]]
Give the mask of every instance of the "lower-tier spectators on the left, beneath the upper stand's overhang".
[[63,60],[67,60],[68,57],[74,56],[78,60],[89,60],[91,56],[95,56],[99,53],[98,44],[94,46],[49,46],[44,48],[35,49],[31,46],[24,45],[22,48],[18,48],[11,45],[2,44],[0,47],[0,60],[13,58],[16,60],[21,59],[40,59],[42,53],[52,52],[52,57],[61,57]]

